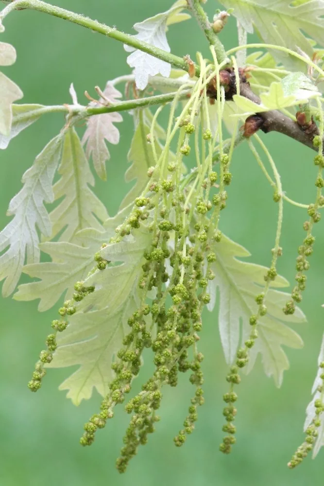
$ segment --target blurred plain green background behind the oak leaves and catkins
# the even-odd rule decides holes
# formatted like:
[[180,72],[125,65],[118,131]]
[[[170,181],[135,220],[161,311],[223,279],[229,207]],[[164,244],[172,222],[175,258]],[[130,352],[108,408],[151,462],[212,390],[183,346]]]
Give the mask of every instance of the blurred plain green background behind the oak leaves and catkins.
[[[133,33],[135,22],[153,16],[170,6],[168,0],[56,0],[62,7],[116,25]],[[212,14],[218,7],[209,0]],[[107,79],[129,73],[122,46],[103,35],[33,11],[12,13],[5,20],[1,40],[17,49],[17,62],[5,68],[24,91],[23,103],[70,103],[68,88],[74,83],[79,101],[83,92],[94,93]],[[204,35],[194,20],[171,26],[168,34],[175,54],[202,50],[208,55]],[[235,21],[231,19],[221,34],[226,48],[236,45]],[[0,227],[12,196],[20,190],[20,178],[34,157],[61,128],[62,115],[47,115],[22,132],[5,152],[1,152]],[[113,215],[127,191],[123,174],[132,136],[132,119],[124,114],[119,124],[120,143],[110,146],[108,181],[97,180],[97,194]],[[82,127],[81,127],[82,129]],[[277,134],[263,136],[282,176],[283,187],[291,198],[309,203],[315,197],[316,168],[313,153]],[[272,190],[260,173],[246,146],[241,146],[233,161],[233,183],[228,207],[222,214],[222,230],[252,253],[252,261],[268,265],[271,259],[276,223]],[[282,246],[284,256],[279,271],[293,281],[297,246],[303,239],[305,210],[286,207]],[[1,486],[304,486],[323,484],[323,451],[317,460],[305,460],[290,471],[286,464],[303,440],[305,407],[316,373],[317,355],[323,334],[324,302],[324,228],[315,229],[316,243],[311,257],[308,284],[302,308],[308,323],[295,326],[305,347],[287,350],[291,367],[285,372],[283,386],[276,389],[258,361],[253,372],[239,386],[238,444],[230,456],[219,451],[222,439],[222,394],[226,391],[226,365],[220,346],[215,314],[205,313],[201,350],[205,354],[205,405],[200,409],[196,430],[185,446],[176,449],[172,438],[181,428],[191,396],[188,377],[175,390],[165,391],[162,420],[141,448],[126,474],[119,475],[115,459],[127,425],[122,410],[105,430],[98,433],[91,448],[79,445],[84,422],[98,408],[94,395],[78,408],[57,387],[69,370],[50,370],[40,392],[30,393],[26,384],[34,367],[55,310],[38,313],[37,302],[15,302],[1,298],[0,327],[0,485]],[[147,366],[143,373],[148,373]],[[136,383],[136,387],[139,382]],[[171,393],[172,392],[172,393]]]

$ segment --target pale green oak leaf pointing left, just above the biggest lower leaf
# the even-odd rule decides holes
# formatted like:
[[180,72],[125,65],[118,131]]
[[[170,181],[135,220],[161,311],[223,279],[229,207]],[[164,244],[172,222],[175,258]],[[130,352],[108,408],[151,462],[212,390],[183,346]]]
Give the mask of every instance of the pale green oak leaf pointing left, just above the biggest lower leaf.
[[51,261],[25,265],[23,272],[37,281],[19,285],[15,300],[40,299],[38,311],[47,311],[61,297],[71,298],[74,283],[84,280],[94,268],[93,255],[115,235],[115,228],[127,217],[131,207],[124,208],[103,224],[104,231],[85,228],[75,235],[74,243],[40,243],[42,252],[51,257]]

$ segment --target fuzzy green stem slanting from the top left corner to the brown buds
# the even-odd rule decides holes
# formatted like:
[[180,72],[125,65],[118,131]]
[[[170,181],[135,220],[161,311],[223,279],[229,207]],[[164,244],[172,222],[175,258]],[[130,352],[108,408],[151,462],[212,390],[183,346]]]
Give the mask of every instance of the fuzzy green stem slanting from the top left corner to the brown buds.
[[[1,11],[0,20],[6,17],[6,15],[8,15],[13,10],[21,8],[38,10],[39,12],[50,14],[54,17],[63,18],[64,20],[68,20],[69,22],[82,25],[87,29],[98,32],[99,34],[103,34],[107,37],[111,37],[112,39],[119,40],[120,42],[123,42],[128,46],[134,47],[135,49],[139,49],[140,51],[146,52],[147,54],[151,54],[157,59],[161,59],[162,61],[170,63],[175,68],[184,69],[185,71],[188,71],[189,69],[188,63],[182,57],[171,54],[170,52],[163,51],[163,49],[159,49],[158,47],[154,47],[151,44],[148,44],[147,42],[138,40],[133,35],[125,34],[124,32],[120,32],[117,29],[108,27],[108,25],[102,24],[97,20],[92,20],[91,18],[84,17],[83,15],[75,14],[74,12],[71,12],[64,8],[56,7],[55,5],[51,5],[50,3],[46,3],[41,0],[14,0]],[[199,66],[195,66],[195,69],[196,75],[199,76]]]

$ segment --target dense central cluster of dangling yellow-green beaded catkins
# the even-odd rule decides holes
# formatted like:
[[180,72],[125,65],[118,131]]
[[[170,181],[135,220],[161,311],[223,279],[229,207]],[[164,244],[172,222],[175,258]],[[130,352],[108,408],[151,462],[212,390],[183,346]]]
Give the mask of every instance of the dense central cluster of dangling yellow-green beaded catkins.
[[[190,106],[193,104],[194,106]],[[143,193],[134,201],[126,220],[116,228],[116,236],[109,243],[119,243],[128,235],[136,238],[136,231],[144,228],[151,235],[151,243],[143,253],[141,272],[137,278],[140,303],[128,316],[129,331],[122,347],[111,364],[114,379],[103,398],[100,411],[84,426],[80,439],[82,445],[92,444],[97,429],[102,429],[114,416],[114,407],[123,404],[130,422],[123,438],[123,447],[117,460],[117,469],[124,472],[129,460],[140,445],[146,444],[159,420],[157,411],[163,398],[163,387],[175,387],[179,373],[188,372],[194,387],[188,404],[188,414],[182,427],[174,436],[180,447],[195,427],[198,407],[204,403],[202,388],[203,354],[198,345],[203,329],[202,312],[210,301],[209,282],[215,278],[212,270],[217,256],[215,245],[221,241],[218,229],[220,211],[226,207],[225,187],[231,182],[230,158],[222,152],[220,175],[213,170],[212,134],[205,128],[206,104],[204,91],[188,102],[188,107],[175,119],[174,133],[178,133],[178,150],[171,155],[169,147],[148,170],[148,183]],[[172,132],[172,133],[173,133]],[[195,178],[182,175],[183,157],[190,154],[190,147],[200,132],[204,148]],[[152,136],[147,143],[154,144]],[[103,246],[106,246],[104,244]],[[96,269],[104,272],[109,260],[102,252],[95,254]],[[93,272],[93,271],[92,271]],[[68,326],[68,315],[77,311],[77,303],[95,292],[77,282],[73,299],[59,309],[61,320],[52,322],[56,331]],[[152,295],[155,295],[152,299]],[[50,363],[56,349],[55,334],[47,338],[48,349],[41,352],[29,387],[36,391],[45,374],[43,364]],[[142,354],[151,350],[153,375],[144,382],[141,391],[129,398],[133,379],[139,374]]]

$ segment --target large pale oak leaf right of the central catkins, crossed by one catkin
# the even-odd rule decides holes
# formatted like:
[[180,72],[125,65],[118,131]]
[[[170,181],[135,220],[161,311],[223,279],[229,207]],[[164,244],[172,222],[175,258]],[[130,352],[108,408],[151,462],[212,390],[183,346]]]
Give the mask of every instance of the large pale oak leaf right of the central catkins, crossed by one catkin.
[[[229,238],[222,236],[222,241],[213,247],[216,261],[212,270],[216,277],[209,283],[211,301],[208,310],[212,311],[215,305],[216,289],[220,293],[219,328],[222,347],[227,364],[234,362],[240,341],[248,339],[250,332],[249,319],[256,314],[257,304],[255,297],[262,292],[266,267],[237,260],[237,257],[248,257],[249,252]],[[283,277],[276,277],[272,282],[272,289],[266,298],[267,314],[260,317],[258,324],[259,337],[250,351],[250,361],[247,371],[255,364],[258,353],[267,376],[273,375],[277,386],[282,382],[283,371],[288,369],[289,363],[281,345],[302,347],[302,340],[293,330],[281,321],[305,322],[303,312],[296,308],[294,315],[286,316],[282,308],[289,298],[289,294],[274,290],[275,287],[286,287],[288,282]],[[240,331],[242,322],[242,333]],[[242,337],[240,337],[242,334]]]

